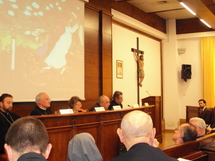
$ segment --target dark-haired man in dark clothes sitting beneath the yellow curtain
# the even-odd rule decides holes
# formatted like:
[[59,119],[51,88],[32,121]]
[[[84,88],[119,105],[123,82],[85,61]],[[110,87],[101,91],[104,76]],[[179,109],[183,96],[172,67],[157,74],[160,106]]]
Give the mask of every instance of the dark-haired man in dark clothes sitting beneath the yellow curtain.
[[212,117],[212,108],[206,107],[206,101],[204,99],[200,99],[198,101],[200,107],[200,115],[199,117],[205,120],[207,125],[211,125],[211,117]]

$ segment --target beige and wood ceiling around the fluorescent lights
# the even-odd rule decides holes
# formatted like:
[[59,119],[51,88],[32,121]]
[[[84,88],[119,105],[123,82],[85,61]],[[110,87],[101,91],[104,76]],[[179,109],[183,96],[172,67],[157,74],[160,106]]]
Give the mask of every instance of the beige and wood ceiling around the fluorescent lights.
[[[155,13],[167,19],[204,19],[215,29],[215,0],[116,0],[127,1],[146,13]],[[192,15],[181,4],[184,2],[197,15]]]

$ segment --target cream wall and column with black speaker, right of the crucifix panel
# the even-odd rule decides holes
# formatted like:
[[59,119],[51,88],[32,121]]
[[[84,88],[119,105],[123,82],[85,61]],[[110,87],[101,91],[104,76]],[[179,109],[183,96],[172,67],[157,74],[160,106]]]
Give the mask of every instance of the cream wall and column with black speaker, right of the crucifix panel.
[[[167,32],[168,39],[163,42],[163,108],[165,128],[174,129],[180,119],[186,119],[186,105],[198,106],[202,98],[200,37],[209,35],[176,35],[175,20],[167,21]],[[185,53],[179,54],[178,48],[184,48]],[[187,82],[181,79],[182,64],[192,66]]]

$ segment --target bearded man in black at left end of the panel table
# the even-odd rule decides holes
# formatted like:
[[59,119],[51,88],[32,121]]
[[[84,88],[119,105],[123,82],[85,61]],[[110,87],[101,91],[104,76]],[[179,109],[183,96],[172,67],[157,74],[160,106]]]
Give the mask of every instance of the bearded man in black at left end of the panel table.
[[4,93],[0,97],[0,153],[4,153],[5,135],[11,124],[19,118],[10,112],[13,108],[13,96]]

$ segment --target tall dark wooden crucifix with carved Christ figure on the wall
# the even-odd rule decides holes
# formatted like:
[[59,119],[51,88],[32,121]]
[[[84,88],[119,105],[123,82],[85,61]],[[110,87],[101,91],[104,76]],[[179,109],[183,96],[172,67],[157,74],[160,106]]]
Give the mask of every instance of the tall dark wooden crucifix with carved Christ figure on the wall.
[[131,51],[134,54],[134,58],[137,62],[137,102],[140,105],[140,90],[139,86],[142,87],[142,81],[144,79],[144,59],[143,59],[143,54],[144,52],[139,50],[139,38],[137,37],[137,48],[131,48]]

